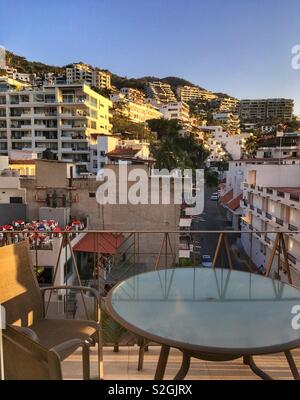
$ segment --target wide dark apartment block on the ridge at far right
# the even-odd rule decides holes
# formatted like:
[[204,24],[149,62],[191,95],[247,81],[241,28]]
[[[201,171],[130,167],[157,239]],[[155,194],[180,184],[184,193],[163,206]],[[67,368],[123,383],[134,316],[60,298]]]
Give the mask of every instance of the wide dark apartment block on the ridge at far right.
[[293,117],[294,100],[292,99],[244,99],[239,105],[241,120],[248,122],[290,121]]

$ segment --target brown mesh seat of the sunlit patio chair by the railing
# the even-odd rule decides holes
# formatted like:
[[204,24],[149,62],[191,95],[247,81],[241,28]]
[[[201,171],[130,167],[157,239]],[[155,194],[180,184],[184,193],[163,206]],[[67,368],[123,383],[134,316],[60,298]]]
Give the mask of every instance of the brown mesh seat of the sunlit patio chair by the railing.
[[[93,339],[97,336],[96,322],[75,319],[43,319],[31,325],[30,329],[37,334],[40,344],[47,349],[70,339],[82,339],[93,344]],[[71,353],[59,355],[63,360]]]

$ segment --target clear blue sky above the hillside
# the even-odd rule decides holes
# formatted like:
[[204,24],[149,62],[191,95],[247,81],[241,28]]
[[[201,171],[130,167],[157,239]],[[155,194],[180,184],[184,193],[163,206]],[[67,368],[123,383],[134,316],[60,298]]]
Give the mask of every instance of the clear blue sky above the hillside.
[[300,0],[0,0],[0,15],[0,45],[29,60],[291,97],[300,114]]

